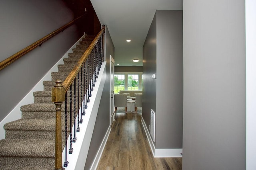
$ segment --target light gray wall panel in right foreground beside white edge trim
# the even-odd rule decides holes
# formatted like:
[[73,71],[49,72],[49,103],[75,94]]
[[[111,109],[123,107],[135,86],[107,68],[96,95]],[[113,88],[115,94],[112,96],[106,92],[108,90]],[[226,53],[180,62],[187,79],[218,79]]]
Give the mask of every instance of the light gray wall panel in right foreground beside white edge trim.
[[183,0],[184,170],[244,170],[245,1]]

